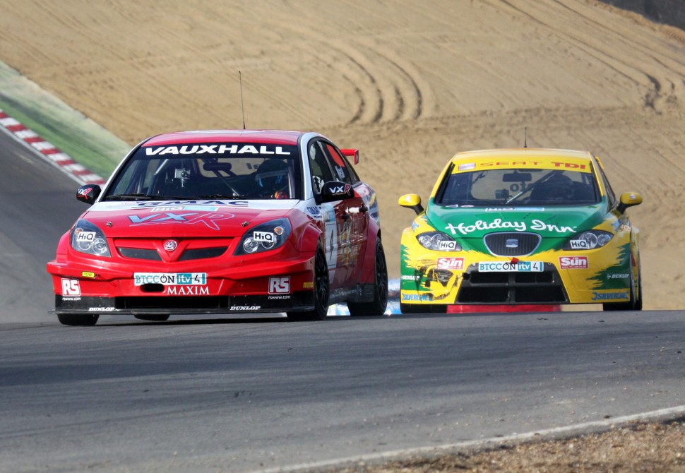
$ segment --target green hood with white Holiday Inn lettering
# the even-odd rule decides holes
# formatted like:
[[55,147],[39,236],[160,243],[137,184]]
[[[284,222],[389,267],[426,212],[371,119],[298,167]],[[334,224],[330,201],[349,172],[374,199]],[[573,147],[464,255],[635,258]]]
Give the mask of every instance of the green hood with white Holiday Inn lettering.
[[[432,204],[432,203],[431,203]],[[428,205],[425,217],[436,230],[457,240],[478,239],[492,232],[532,232],[550,244],[592,229],[607,218],[607,204],[547,207],[440,207]],[[609,214],[611,215],[611,214]],[[472,241],[475,244],[475,241]],[[542,245],[546,246],[546,245]]]

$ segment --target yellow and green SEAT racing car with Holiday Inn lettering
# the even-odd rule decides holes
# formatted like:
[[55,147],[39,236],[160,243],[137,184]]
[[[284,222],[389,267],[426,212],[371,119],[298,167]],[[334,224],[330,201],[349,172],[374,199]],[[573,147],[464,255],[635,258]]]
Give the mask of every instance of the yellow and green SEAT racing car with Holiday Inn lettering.
[[590,152],[503,149],[459,152],[426,208],[402,234],[400,310],[450,306],[602,304],[641,310],[638,229]]

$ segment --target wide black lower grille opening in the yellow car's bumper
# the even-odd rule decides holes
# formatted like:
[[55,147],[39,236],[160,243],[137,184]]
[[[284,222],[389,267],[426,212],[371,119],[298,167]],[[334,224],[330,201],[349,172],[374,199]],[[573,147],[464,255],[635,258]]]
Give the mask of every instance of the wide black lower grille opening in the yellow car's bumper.
[[568,296],[554,265],[545,263],[535,272],[479,273],[470,267],[464,273],[458,304],[564,304]]

